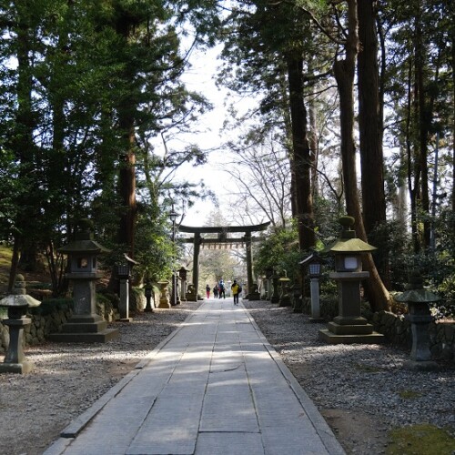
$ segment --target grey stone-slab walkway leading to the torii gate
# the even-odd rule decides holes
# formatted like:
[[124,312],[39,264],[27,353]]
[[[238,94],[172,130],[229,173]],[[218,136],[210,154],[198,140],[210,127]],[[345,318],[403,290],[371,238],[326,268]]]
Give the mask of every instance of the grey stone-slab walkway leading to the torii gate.
[[344,454],[232,298],[206,300],[45,455]]

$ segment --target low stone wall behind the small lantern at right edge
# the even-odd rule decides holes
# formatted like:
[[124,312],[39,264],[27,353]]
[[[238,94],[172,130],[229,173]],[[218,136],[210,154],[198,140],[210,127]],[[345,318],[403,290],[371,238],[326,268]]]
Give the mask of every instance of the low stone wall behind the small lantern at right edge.
[[[379,311],[372,315],[371,322],[374,329],[384,334],[390,343],[410,349],[412,345],[410,322],[404,316]],[[431,322],[429,335],[430,351],[434,358],[455,359],[455,322]]]

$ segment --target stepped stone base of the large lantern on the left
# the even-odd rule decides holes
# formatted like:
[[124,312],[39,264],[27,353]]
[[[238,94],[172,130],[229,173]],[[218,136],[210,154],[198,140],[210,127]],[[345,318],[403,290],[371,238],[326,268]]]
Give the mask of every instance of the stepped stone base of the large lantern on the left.
[[100,316],[74,316],[62,326],[62,331],[49,335],[51,341],[64,343],[106,343],[118,337],[118,329],[107,329]]

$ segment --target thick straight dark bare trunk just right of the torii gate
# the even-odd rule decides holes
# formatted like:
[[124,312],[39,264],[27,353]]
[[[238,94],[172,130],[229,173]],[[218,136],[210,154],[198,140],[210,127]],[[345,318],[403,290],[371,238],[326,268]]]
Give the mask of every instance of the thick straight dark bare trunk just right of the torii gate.
[[295,190],[298,210],[298,243],[300,249],[314,247],[314,218],[311,198],[310,151],[307,137],[307,110],[303,100],[303,59],[298,52],[289,53],[288,84],[289,105],[292,126],[293,159],[295,172]]

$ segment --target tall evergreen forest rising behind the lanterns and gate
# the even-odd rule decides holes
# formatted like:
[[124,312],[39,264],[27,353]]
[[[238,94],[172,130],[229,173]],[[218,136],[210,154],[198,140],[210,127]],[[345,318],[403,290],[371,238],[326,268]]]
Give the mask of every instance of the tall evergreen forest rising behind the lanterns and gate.
[[[58,248],[86,217],[114,252],[107,268],[126,253],[140,264],[137,281],[168,278],[189,253],[171,241],[169,212],[214,197],[193,172],[177,171],[221,152],[236,208],[208,222],[271,222],[255,246],[257,276],[274,267],[297,278],[298,261],[336,238],[347,213],[378,247],[364,261],[373,309],[389,309],[390,291],[416,266],[453,305],[452,4],[2,0],[9,287],[18,268],[45,258],[54,294],[64,293]],[[183,82],[189,56],[214,45],[217,83],[235,94],[223,125],[232,133],[217,151],[180,140],[204,128],[212,107]]]

